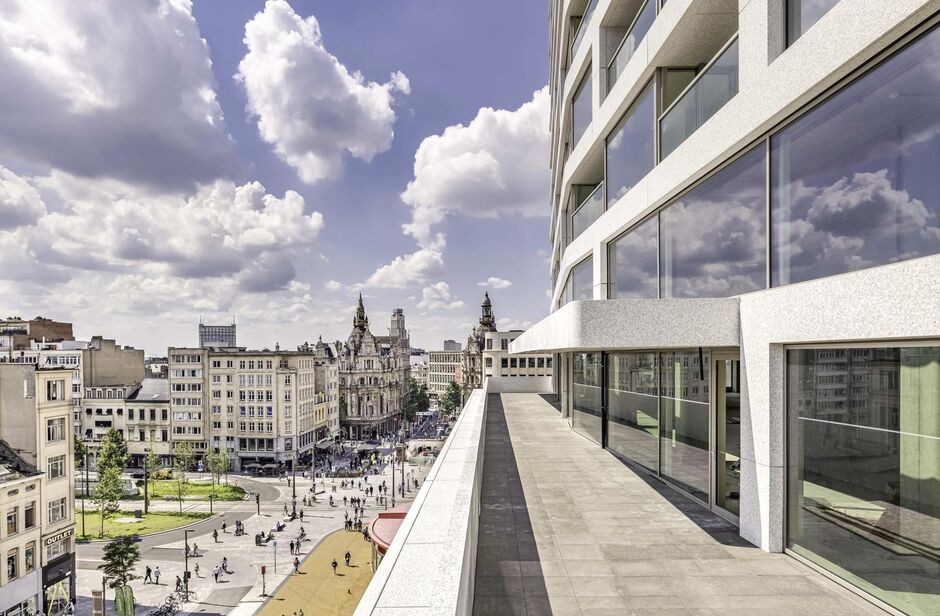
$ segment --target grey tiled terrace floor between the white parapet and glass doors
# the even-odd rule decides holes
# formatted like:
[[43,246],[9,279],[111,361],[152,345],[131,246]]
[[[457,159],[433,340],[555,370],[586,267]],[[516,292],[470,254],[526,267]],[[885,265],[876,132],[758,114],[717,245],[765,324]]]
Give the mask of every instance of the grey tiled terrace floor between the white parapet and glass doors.
[[474,614],[884,614],[572,431],[488,401]]

